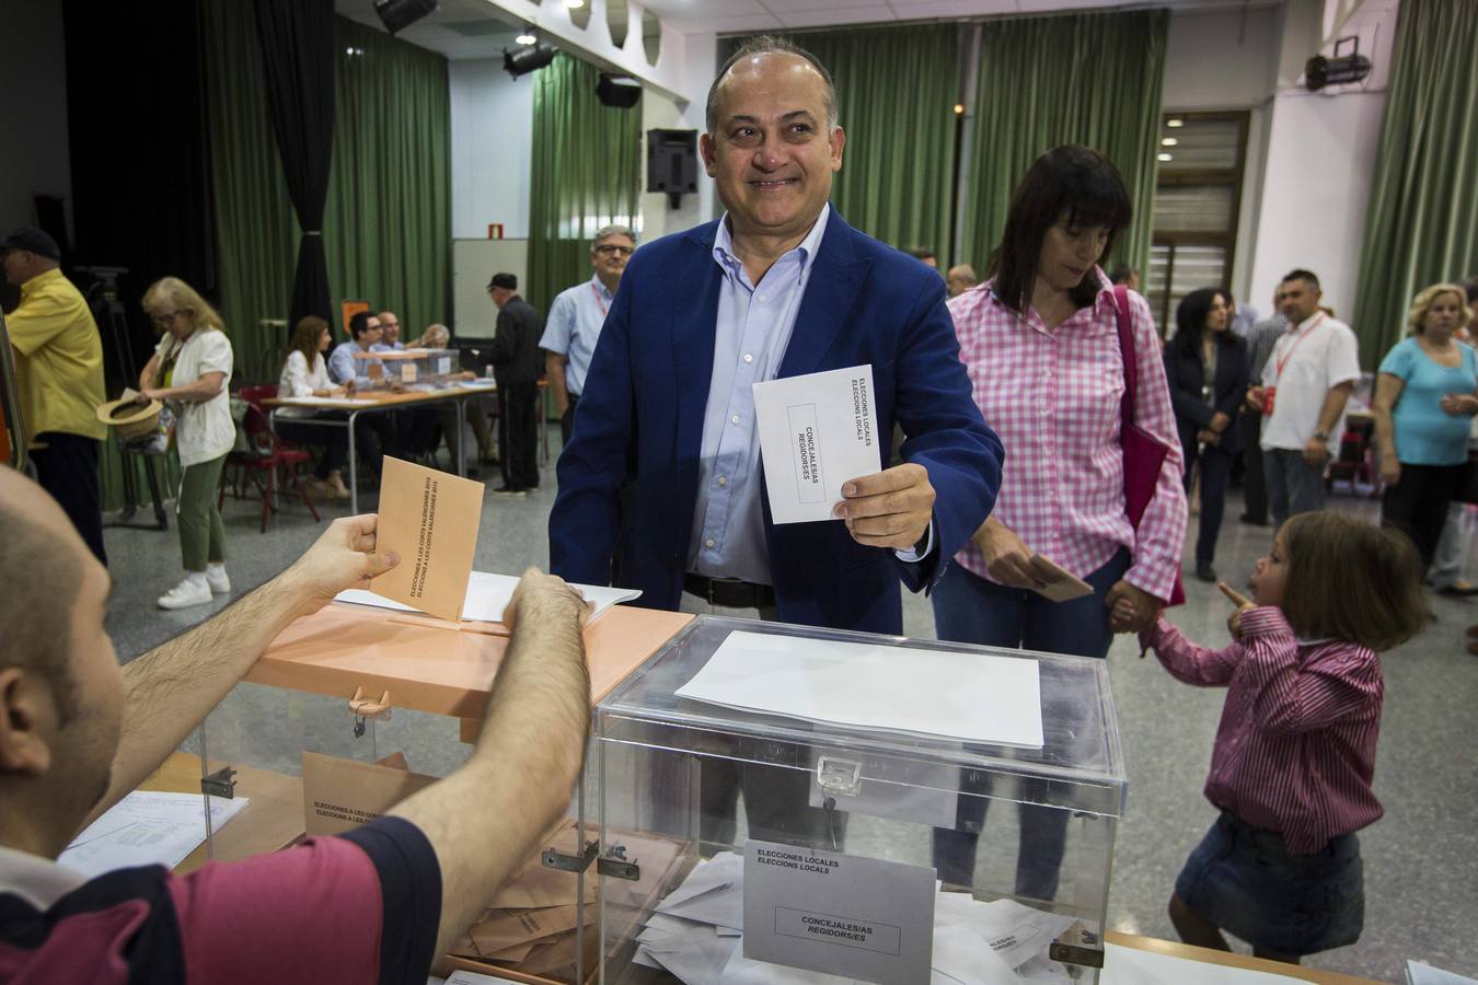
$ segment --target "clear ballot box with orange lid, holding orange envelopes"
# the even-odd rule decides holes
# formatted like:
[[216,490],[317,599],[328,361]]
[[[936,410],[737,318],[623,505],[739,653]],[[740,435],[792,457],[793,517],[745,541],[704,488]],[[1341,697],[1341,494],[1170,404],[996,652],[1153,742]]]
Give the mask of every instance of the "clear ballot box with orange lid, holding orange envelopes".
[[[689,620],[618,605],[590,623],[593,699]],[[211,827],[195,862],[352,830],[455,771],[473,755],[507,641],[501,623],[338,603],[290,626],[154,778],[205,793]],[[597,978],[594,793],[582,775],[565,818],[437,958],[437,975],[464,969],[535,985]],[[488,830],[495,837],[498,826]]]

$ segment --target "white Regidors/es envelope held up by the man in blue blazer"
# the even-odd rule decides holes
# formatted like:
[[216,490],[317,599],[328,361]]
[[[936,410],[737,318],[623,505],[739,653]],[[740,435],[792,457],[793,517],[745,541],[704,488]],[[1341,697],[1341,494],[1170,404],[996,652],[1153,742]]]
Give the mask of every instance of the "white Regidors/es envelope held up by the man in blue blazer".
[[850,478],[882,471],[872,366],[754,384],[760,459],[774,523],[834,520]]

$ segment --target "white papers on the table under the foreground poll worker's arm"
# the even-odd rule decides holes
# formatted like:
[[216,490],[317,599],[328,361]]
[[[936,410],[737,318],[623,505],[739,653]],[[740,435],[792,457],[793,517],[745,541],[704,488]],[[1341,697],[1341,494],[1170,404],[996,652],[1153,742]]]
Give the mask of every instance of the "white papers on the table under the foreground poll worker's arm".
[[[134,790],[89,824],[56,861],[87,877],[136,865],[174,868],[205,840],[202,802],[200,793]],[[247,797],[211,797],[213,830],[219,831],[247,803]]]

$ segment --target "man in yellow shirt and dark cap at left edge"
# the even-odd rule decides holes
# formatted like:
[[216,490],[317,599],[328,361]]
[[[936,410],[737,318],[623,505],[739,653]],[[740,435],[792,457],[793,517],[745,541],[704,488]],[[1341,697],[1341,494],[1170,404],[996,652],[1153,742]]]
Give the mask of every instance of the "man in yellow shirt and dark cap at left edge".
[[98,490],[98,453],[108,436],[98,421],[98,406],[106,399],[102,338],[87,301],[62,276],[61,258],[56,241],[40,229],[22,226],[0,239],[4,278],[21,288],[21,306],[6,316],[6,328],[41,486],[108,564]]

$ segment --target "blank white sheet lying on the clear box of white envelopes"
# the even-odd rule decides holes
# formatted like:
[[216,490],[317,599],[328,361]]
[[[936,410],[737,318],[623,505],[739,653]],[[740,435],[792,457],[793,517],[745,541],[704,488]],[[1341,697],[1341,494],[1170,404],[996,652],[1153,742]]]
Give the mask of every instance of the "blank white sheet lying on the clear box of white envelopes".
[[678,697],[807,721],[1042,747],[1036,660],[735,632]]

